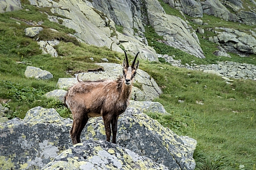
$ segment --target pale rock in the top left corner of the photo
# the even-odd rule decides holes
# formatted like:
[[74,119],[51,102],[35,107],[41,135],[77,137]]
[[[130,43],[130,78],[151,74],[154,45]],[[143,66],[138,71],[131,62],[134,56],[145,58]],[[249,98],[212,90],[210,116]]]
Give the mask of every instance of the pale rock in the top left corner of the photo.
[[8,11],[21,10],[22,4],[19,0],[5,0],[0,1],[0,13],[5,13]]

